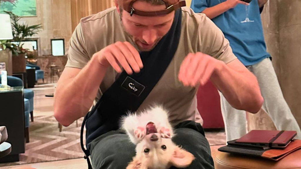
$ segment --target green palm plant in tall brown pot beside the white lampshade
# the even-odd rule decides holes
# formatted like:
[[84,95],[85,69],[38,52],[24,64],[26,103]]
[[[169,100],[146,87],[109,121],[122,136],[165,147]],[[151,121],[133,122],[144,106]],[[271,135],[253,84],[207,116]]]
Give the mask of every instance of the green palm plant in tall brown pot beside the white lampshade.
[[5,13],[9,14],[12,20],[11,25],[14,37],[12,41],[17,42],[17,45],[12,45],[12,43],[10,43],[10,49],[12,49],[13,52],[13,73],[26,72],[25,56],[27,49],[23,48],[23,44],[21,42],[24,40],[30,40],[29,38],[37,34],[42,26],[40,24],[32,26],[28,26],[24,23],[20,24],[19,20],[21,17],[9,11],[5,11]]

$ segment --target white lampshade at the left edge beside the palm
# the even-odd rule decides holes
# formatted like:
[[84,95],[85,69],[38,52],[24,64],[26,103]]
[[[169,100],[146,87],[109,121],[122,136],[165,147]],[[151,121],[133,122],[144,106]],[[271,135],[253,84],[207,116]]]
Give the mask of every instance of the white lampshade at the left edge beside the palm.
[[13,39],[11,17],[9,14],[0,14],[0,40]]

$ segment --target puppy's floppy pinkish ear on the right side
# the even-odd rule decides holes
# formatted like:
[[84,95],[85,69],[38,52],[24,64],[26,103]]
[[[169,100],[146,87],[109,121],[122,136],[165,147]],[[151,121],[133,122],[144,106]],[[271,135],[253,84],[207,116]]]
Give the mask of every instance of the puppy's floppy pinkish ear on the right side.
[[184,168],[188,167],[194,159],[195,158],[193,154],[184,149],[176,147],[172,158],[170,159],[170,163],[175,167]]

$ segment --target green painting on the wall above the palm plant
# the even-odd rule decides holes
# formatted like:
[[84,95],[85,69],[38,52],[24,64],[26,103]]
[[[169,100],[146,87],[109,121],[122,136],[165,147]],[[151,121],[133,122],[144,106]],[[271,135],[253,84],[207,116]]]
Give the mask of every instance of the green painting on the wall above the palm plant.
[[36,0],[0,0],[0,13],[11,11],[20,17],[35,17],[36,6]]

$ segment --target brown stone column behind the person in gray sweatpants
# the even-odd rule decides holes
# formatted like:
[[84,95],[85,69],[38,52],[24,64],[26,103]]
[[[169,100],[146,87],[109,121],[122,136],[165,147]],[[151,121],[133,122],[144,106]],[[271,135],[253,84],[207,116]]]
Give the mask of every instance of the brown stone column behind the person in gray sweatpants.
[[[269,0],[261,14],[265,42],[278,81],[293,115],[301,125],[301,0]],[[261,110],[248,113],[248,129],[275,129]]]

